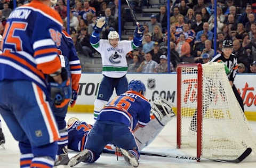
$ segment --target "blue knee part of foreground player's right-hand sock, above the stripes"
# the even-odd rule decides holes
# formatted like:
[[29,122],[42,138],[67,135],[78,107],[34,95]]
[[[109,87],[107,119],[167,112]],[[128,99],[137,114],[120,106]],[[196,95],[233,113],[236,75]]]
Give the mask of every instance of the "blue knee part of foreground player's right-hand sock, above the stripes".
[[48,156],[55,160],[58,150],[57,142],[53,142],[51,144],[46,144],[42,146],[31,146],[34,157],[44,157]]

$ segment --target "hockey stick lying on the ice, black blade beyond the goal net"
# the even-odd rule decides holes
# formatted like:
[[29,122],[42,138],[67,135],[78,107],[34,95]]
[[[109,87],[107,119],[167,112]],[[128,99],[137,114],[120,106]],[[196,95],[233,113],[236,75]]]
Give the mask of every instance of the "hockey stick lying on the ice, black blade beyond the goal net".
[[[225,162],[225,163],[240,163],[242,162],[247,156],[249,156],[252,152],[252,148],[247,148],[242,155],[240,155],[238,158],[233,160],[227,160],[227,159],[211,159],[211,158],[205,158],[210,161],[216,161],[216,162]],[[151,152],[140,152],[141,155],[147,155],[147,156],[159,156],[159,157],[170,157],[170,158],[179,158],[179,159],[188,159],[188,160],[194,160],[199,161],[200,158],[198,157],[189,157],[189,156],[174,156],[174,155],[168,155],[163,153],[151,153]]]

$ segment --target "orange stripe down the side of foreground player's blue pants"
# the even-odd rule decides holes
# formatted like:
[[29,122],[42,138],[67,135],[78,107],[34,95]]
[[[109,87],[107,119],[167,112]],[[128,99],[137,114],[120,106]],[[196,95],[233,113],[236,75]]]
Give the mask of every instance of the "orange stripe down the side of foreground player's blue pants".
[[48,122],[50,124],[50,128],[51,128],[52,135],[53,135],[53,141],[56,141],[56,140],[59,139],[58,130],[54,126],[54,121],[52,120],[52,117],[51,117],[51,114],[50,114],[51,112],[49,111],[49,108],[47,107],[47,104],[44,101],[43,91],[38,86],[36,86],[36,88],[37,88],[38,96],[40,98],[40,102],[41,102],[41,104],[43,105],[43,108],[44,108],[44,112],[43,113],[45,113],[45,115],[47,117],[47,120],[48,120]]

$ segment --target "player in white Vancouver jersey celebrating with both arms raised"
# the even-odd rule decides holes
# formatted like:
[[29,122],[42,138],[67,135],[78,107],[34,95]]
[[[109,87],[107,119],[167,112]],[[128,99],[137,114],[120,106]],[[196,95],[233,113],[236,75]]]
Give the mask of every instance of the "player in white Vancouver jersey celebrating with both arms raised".
[[100,32],[105,26],[105,17],[97,20],[94,31],[90,37],[90,43],[102,58],[103,79],[100,84],[97,99],[94,102],[94,119],[96,120],[101,108],[107,104],[114,88],[116,94],[121,95],[127,91],[128,81],[125,77],[127,73],[126,54],[139,47],[142,43],[144,28],[138,26],[134,32],[133,40],[119,40],[116,31],[110,31],[108,40],[100,39]]

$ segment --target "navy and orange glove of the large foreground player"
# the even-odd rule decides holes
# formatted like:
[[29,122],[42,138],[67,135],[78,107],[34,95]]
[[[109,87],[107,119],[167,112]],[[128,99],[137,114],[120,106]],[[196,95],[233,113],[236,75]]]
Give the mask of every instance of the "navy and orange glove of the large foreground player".
[[64,107],[69,103],[71,97],[70,78],[68,77],[67,70],[61,69],[62,83],[57,83],[49,76],[49,86],[51,91],[51,99],[57,108]]

